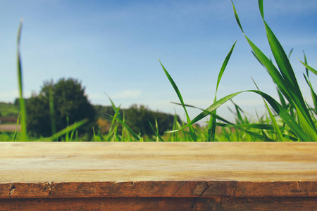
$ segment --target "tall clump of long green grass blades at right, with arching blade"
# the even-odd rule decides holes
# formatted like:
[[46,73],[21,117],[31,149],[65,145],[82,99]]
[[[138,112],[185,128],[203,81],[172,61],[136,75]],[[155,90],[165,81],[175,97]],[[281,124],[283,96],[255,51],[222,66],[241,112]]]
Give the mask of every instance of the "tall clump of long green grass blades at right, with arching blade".
[[[244,30],[242,29],[242,24],[240,23],[239,17],[237,15],[237,11],[235,9],[235,5],[232,1],[232,8],[235,14],[235,19],[237,20],[237,25],[240,27],[240,30],[244,34]],[[189,117],[187,117],[187,124],[182,127],[181,129],[185,129],[192,127],[192,125],[206,116],[211,116],[211,120],[209,122],[209,130],[207,132],[207,140],[206,141],[215,141],[216,133],[213,132],[215,129],[215,119],[220,120],[220,126],[222,127],[235,127],[235,129],[242,130],[253,136],[254,139],[262,139],[263,141],[316,141],[317,140],[317,129],[316,129],[316,118],[315,114],[312,111],[316,110],[316,108],[311,108],[306,101],[304,101],[304,97],[302,96],[302,92],[299,89],[299,85],[297,83],[297,78],[294,75],[294,70],[290,65],[290,60],[287,57],[285,51],[282,49],[280,42],[275,37],[275,34],[272,32],[271,28],[268,26],[266,21],[264,20],[264,12],[263,12],[263,1],[259,0],[259,10],[261,13],[261,17],[263,19],[264,27],[266,29],[266,35],[268,39],[268,44],[271,47],[271,51],[273,53],[273,57],[275,59],[275,63],[277,63],[278,67],[275,67],[273,61],[268,58],[262,51],[244,34],[244,37],[247,39],[249,45],[251,46],[252,53],[256,57],[256,59],[261,63],[263,68],[266,69],[268,74],[272,77],[275,86],[278,89],[278,93],[280,94],[280,101],[278,103],[273,97],[269,94],[263,93],[259,90],[247,90],[247,91],[239,91],[216,101],[216,94],[214,103],[211,104],[208,108],[202,110],[202,112],[194,117],[193,120],[189,121]],[[223,75],[223,71],[225,66],[228,63],[228,60],[231,56],[232,50],[235,44],[230,49],[228,56],[225,58],[223,62],[223,66],[220,69],[220,74],[218,77],[216,91],[218,89],[218,84],[220,79]],[[160,62],[161,63],[161,62]],[[309,67],[306,63],[303,65],[311,72],[316,74],[316,70]],[[163,65],[162,65],[163,67]],[[175,82],[168,74],[166,68],[163,67],[164,72],[172,84],[175,92],[178,94],[180,98],[180,105],[184,108],[185,113],[186,106],[184,101],[182,100],[182,96],[180,95],[180,91],[178,90]],[[311,89],[311,93],[313,96],[314,106],[316,106],[316,94],[313,92],[313,87],[309,82],[308,70],[306,70],[306,81],[309,84]],[[223,118],[218,117],[216,115],[216,109],[226,103],[227,101],[231,100],[233,97],[237,96],[238,94],[242,94],[244,92],[251,92],[254,94],[259,94],[266,105],[268,111],[268,117],[264,120],[264,122],[256,122],[256,123],[249,123],[249,121],[245,121],[242,119],[240,115],[240,110],[237,110],[237,122],[232,123],[228,122],[227,120],[223,120]],[[286,100],[286,101],[285,101]],[[287,103],[286,103],[287,102]],[[269,106],[270,107],[269,107]],[[191,106],[194,107],[194,106]],[[276,118],[275,115],[278,115],[279,118]],[[224,122],[224,123],[221,123]],[[242,124],[243,123],[243,124]],[[254,130],[261,130],[261,132]],[[176,129],[172,132],[179,132],[181,129]],[[197,137],[194,137],[197,139]],[[193,139],[193,141],[194,141]]]

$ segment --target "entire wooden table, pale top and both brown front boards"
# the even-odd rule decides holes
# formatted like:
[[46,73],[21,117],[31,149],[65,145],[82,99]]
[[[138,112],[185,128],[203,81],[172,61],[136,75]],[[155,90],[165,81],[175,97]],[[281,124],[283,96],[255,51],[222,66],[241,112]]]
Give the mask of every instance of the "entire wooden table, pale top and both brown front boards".
[[0,143],[0,210],[317,210],[317,143]]

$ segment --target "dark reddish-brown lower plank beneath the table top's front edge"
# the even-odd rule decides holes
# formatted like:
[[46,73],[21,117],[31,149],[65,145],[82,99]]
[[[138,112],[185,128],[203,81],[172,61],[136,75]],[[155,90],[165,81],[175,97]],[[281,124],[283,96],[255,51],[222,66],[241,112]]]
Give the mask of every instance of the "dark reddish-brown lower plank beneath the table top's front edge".
[[0,210],[317,210],[317,198],[0,199]]

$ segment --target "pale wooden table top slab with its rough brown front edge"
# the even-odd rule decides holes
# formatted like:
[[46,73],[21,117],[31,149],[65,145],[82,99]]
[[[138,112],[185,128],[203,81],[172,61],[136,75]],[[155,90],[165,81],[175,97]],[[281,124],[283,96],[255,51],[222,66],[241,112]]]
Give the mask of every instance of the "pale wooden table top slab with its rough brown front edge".
[[317,143],[0,146],[0,198],[317,196]]

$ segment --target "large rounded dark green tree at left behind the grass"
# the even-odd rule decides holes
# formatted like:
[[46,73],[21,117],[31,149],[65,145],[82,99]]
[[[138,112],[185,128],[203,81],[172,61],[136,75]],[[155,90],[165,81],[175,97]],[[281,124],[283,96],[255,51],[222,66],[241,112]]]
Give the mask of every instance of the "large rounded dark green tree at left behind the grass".
[[56,131],[66,128],[82,119],[89,118],[89,124],[78,129],[79,134],[92,132],[94,124],[94,106],[87,96],[85,87],[77,79],[60,79],[56,84],[44,82],[39,94],[33,94],[26,101],[27,131],[33,136],[51,136],[51,115],[49,93],[53,94],[54,120]]

